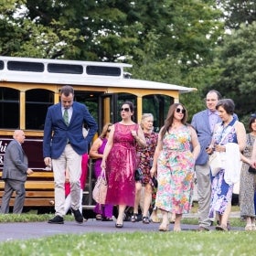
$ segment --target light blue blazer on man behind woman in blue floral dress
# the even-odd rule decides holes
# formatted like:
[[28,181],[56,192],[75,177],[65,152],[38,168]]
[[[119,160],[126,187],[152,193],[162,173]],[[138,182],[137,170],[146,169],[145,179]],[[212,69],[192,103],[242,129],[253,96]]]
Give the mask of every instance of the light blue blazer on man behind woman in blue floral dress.
[[[221,122],[219,118],[218,123]],[[196,165],[205,165],[208,162],[208,154],[206,148],[211,143],[212,133],[208,122],[208,110],[197,112],[193,118],[191,125],[197,132],[199,144],[201,146],[200,154],[197,157]]]

